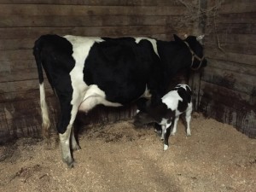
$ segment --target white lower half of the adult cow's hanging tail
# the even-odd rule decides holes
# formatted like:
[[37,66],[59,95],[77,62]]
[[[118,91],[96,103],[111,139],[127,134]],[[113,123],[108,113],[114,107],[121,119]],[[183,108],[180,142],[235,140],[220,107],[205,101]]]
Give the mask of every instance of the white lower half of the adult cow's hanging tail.
[[39,90],[40,90],[40,106],[42,110],[42,127],[44,131],[48,131],[50,121],[49,121],[49,113],[48,113],[48,106],[47,103],[45,102],[45,90],[44,90],[44,83],[39,84]]

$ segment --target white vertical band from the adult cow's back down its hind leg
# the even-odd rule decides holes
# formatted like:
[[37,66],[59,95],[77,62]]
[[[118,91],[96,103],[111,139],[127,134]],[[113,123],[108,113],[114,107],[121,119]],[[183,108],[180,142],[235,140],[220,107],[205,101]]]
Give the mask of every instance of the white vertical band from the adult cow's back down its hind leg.
[[73,59],[75,60],[75,67],[73,67],[73,70],[69,73],[73,87],[73,99],[71,101],[73,108],[70,125],[73,125],[79,105],[83,102],[85,92],[88,89],[88,85],[84,83],[84,61],[89,55],[91,46],[104,40],[102,38],[88,38],[72,35],[64,36],[64,38],[67,38],[73,45]]

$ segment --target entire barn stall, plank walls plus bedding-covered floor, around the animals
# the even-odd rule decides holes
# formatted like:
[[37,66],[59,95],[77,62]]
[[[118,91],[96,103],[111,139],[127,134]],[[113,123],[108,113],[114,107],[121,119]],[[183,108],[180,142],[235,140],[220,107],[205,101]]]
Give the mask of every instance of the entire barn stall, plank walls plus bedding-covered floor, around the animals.
[[[254,0],[0,0],[0,9],[1,191],[255,189],[255,140],[248,138],[256,137]],[[32,47],[46,33],[161,40],[205,34],[207,67],[173,79],[193,90],[192,137],[184,139],[179,123],[162,154],[152,130],[133,129],[135,106],[98,107],[79,114],[78,125],[89,131],[79,136],[79,164],[67,170],[59,149],[46,150],[40,139]],[[49,84],[46,90],[55,132],[58,102]]]

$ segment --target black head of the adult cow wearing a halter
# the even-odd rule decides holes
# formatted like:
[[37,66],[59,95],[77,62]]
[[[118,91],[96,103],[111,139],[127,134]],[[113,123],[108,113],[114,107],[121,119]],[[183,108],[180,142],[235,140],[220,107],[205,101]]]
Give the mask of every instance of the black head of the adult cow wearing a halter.
[[185,39],[178,38],[177,35],[173,35],[176,42],[186,44],[191,55],[191,69],[197,70],[201,67],[207,66],[207,60],[203,55],[203,47],[201,45],[201,40],[204,38],[204,35],[198,37],[195,36],[185,36]]

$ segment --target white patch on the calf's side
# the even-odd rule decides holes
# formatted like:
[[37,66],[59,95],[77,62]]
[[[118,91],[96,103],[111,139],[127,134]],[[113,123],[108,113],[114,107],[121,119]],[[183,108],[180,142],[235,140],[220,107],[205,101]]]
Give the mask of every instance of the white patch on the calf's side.
[[177,101],[183,101],[183,98],[180,97],[176,90],[168,92],[165,96],[162,97],[162,102],[166,103],[167,108],[173,110],[177,109]]

